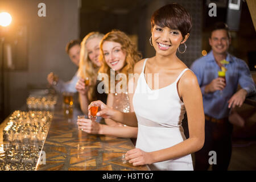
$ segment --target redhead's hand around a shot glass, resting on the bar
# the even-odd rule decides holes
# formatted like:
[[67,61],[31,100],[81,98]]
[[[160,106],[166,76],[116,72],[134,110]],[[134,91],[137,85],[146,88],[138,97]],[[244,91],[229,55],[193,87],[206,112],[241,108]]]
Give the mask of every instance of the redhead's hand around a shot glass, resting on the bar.
[[95,119],[77,119],[79,129],[90,134],[100,134],[101,124],[97,123]]

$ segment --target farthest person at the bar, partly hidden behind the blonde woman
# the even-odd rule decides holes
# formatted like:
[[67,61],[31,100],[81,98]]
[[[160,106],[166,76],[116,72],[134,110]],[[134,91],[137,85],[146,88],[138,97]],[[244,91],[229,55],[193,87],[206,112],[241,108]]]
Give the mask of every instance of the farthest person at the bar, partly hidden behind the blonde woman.
[[[69,58],[75,65],[77,65],[77,67],[79,67],[80,61],[80,44],[80,40],[71,40],[66,46],[66,52]],[[56,75],[53,74],[53,72],[49,73],[47,80],[49,84],[52,85],[57,92],[77,92],[76,83],[79,80],[79,77],[77,77],[77,72],[72,77],[72,79],[67,82],[64,82],[63,80],[59,79]]]

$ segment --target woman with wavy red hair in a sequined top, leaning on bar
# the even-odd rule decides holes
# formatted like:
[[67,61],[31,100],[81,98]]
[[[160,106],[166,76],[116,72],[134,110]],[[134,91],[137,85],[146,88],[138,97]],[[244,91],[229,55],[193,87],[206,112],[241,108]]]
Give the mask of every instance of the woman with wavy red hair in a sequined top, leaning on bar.
[[[113,30],[102,38],[100,52],[102,66],[98,78],[104,78],[102,83],[104,83],[105,92],[108,93],[107,105],[122,113],[133,112],[133,105],[129,100],[127,91],[127,77],[129,73],[133,73],[134,64],[141,59],[141,53],[137,51],[130,38],[119,30]],[[112,85],[113,79],[114,84]],[[123,84],[120,85],[115,80],[121,80],[119,82]],[[86,133],[137,138],[137,127],[122,125],[112,121],[112,119],[105,118],[107,125],[97,123],[93,119],[78,119],[77,123],[79,128]]]

